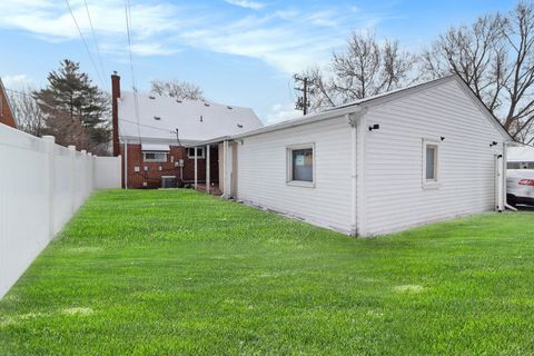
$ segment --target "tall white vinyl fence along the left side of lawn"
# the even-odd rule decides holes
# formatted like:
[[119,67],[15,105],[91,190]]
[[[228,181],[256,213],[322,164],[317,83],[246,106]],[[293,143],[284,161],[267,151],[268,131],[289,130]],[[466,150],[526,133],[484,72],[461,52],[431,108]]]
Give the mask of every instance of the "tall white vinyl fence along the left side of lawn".
[[0,298],[95,189],[120,188],[120,166],[0,123]]

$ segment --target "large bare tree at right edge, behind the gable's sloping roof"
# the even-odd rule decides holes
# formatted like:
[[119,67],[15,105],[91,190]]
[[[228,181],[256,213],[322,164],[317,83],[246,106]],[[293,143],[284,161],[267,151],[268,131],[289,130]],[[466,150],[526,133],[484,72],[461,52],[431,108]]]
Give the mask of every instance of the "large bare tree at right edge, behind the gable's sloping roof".
[[459,75],[517,140],[533,136],[534,4],[451,28],[424,51],[424,76]]

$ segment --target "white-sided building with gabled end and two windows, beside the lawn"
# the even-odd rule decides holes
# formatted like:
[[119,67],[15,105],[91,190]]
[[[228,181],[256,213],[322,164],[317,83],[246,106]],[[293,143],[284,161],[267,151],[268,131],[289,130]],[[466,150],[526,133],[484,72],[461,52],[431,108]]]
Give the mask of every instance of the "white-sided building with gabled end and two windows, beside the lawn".
[[357,236],[505,207],[512,137],[458,76],[201,145],[226,197]]

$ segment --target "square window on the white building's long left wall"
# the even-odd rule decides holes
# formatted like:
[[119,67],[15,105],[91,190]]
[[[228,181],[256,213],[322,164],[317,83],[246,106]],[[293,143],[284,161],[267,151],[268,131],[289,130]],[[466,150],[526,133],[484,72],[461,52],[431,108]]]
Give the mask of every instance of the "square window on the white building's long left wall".
[[287,148],[287,182],[313,186],[315,181],[314,145]]

